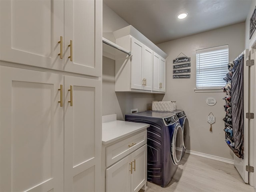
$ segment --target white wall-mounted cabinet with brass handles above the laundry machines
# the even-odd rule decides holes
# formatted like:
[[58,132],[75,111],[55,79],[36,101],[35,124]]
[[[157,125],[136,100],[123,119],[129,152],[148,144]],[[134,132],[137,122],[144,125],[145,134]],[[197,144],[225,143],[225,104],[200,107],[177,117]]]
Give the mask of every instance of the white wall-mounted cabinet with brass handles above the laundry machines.
[[164,93],[166,77],[164,58],[167,54],[132,26],[127,26],[113,34],[116,44],[131,51],[130,57],[116,59],[115,90]]

